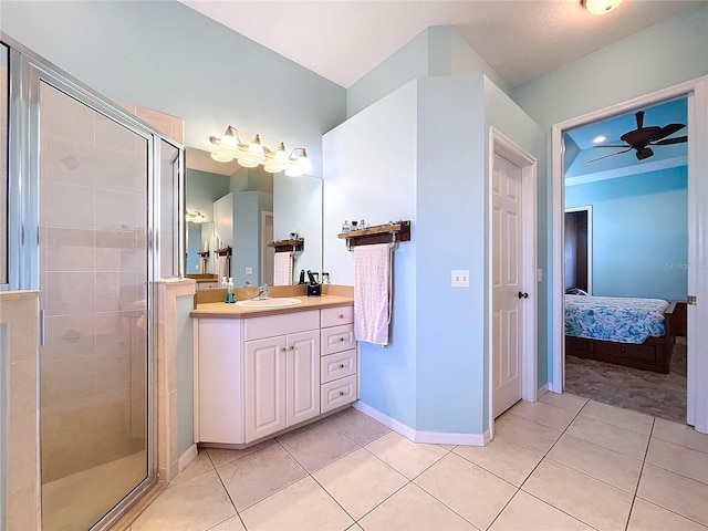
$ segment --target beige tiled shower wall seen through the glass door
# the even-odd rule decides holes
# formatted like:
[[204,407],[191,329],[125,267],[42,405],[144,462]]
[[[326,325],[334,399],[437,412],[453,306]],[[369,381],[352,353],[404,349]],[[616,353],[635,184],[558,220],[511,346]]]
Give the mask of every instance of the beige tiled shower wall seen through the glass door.
[[41,93],[42,482],[145,448],[147,144]]

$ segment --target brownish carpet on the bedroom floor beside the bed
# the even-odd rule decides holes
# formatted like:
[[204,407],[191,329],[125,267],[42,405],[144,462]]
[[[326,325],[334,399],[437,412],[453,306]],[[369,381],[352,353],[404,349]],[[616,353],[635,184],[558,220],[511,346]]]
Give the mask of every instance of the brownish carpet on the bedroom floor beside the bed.
[[686,423],[686,339],[676,337],[669,374],[565,357],[565,392]]

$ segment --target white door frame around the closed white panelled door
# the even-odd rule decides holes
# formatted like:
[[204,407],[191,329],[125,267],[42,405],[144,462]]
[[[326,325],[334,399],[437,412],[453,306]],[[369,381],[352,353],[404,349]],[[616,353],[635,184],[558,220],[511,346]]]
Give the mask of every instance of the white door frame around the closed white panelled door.
[[521,354],[521,399],[535,402],[538,396],[538,272],[537,272],[537,173],[538,162],[535,157],[521,148],[512,139],[494,127],[489,128],[489,153],[487,171],[487,326],[486,333],[489,337],[489,373],[488,378],[488,426],[489,436],[493,438],[494,413],[493,413],[493,333],[492,333],[492,268],[493,268],[493,219],[492,219],[492,179],[494,171],[494,153],[498,153],[507,160],[521,168],[521,194],[522,194],[522,226],[521,242],[524,249],[523,254],[523,285],[529,293],[529,302],[523,312],[523,343]]

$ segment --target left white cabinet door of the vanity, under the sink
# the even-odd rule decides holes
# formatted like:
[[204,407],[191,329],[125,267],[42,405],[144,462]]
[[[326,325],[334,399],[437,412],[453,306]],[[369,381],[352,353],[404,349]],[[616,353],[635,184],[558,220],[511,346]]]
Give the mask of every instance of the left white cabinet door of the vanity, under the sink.
[[246,441],[285,428],[285,339],[246,342]]

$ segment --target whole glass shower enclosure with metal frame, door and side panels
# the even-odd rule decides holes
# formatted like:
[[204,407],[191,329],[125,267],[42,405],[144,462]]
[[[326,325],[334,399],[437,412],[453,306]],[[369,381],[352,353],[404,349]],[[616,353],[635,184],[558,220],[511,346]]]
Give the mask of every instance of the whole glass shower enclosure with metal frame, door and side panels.
[[179,274],[184,149],[9,45],[6,287],[40,290],[42,529],[104,529],[157,479],[155,281]]

